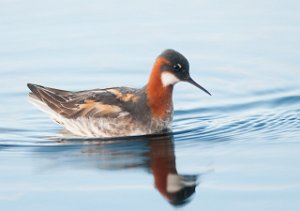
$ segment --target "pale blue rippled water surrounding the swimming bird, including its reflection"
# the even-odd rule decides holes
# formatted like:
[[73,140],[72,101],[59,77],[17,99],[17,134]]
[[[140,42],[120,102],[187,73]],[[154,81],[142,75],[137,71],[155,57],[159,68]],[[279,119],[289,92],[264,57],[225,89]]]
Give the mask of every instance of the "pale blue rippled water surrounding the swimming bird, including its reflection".
[[[299,210],[299,6],[2,0],[0,210]],[[63,139],[27,102],[27,82],[141,87],[166,48],[213,95],[176,85],[172,134]]]

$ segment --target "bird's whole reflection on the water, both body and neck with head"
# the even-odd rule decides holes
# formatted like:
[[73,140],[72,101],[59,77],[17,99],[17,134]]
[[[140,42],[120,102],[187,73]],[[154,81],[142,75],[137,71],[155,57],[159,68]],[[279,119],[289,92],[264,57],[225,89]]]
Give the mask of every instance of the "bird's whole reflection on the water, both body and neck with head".
[[114,140],[72,138],[59,141],[66,147],[79,147],[81,154],[96,160],[97,168],[146,168],[153,174],[155,188],[174,206],[187,204],[195,193],[198,175],[181,175],[177,172],[173,135]]

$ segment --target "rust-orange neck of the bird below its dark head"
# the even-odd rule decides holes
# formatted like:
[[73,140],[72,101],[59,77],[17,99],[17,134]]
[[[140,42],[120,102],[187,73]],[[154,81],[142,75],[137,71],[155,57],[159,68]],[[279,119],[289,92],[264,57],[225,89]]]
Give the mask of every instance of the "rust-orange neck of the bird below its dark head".
[[153,117],[159,119],[169,118],[173,112],[173,85],[165,87],[161,81],[160,67],[163,63],[165,63],[163,58],[156,60],[146,88],[148,106]]

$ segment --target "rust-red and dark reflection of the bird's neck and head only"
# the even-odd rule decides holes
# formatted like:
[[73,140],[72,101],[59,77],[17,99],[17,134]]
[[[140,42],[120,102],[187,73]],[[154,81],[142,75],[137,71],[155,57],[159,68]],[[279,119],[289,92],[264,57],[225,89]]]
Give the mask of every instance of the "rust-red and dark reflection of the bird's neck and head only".
[[157,190],[173,205],[189,201],[195,192],[197,175],[177,173],[172,136],[149,141],[150,169]]

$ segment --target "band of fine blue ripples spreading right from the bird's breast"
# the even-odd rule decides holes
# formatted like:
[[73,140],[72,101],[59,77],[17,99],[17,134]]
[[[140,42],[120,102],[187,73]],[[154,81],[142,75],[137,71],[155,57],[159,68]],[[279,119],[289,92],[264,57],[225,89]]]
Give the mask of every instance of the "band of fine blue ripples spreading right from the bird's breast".
[[292,138],[300,133],[299,106],[300,95],[290,95],[177,111],[174,133],[189,141]]

